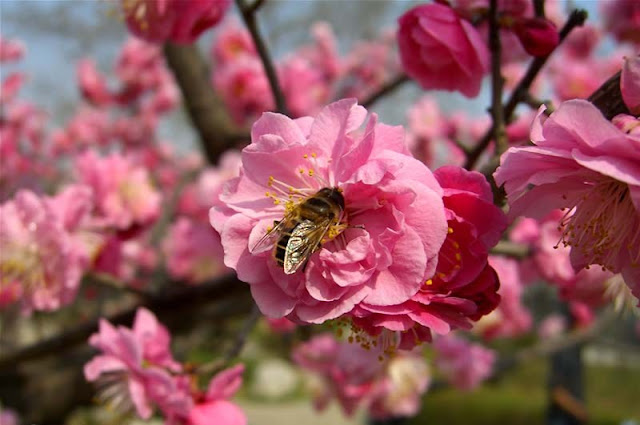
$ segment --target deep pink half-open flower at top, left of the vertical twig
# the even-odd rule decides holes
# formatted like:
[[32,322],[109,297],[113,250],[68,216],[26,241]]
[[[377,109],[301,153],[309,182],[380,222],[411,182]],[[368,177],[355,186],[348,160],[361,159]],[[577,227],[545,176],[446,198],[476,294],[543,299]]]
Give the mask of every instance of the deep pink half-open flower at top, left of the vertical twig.
[[409,10],[399,24],[402,65],[423,89],[478,95],[489,70],[489,50],[469,22],[450,7],[433,3]]

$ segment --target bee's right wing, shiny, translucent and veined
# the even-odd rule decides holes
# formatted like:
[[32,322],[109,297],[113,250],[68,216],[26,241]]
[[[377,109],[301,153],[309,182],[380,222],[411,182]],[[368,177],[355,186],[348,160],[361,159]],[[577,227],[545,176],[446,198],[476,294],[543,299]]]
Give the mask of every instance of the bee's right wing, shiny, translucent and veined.
[[303,220],[291,231],[284,254],[284,272],[295,273],[313,254],[331,227],[331,220]]

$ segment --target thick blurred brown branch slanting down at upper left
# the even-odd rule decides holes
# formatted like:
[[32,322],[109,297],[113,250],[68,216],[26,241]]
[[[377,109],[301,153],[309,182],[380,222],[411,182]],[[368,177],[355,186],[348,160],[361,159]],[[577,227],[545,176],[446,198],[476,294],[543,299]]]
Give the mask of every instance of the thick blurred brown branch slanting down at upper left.
[[197,45],[167,43],[164,56],[180,87],[209,163],[217,163],[224,151],[249,140],[248,134],[231,124],[222,101],[211,87],[209,70]]

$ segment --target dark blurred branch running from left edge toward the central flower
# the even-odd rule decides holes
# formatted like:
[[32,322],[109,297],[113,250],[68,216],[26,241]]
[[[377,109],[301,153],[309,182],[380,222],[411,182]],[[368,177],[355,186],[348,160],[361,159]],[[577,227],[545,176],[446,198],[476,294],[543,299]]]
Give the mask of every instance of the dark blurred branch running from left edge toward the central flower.
[[[234,274],[199,285],[186,286],[177,282],[169,285],[177,287],[158,295],[149,296],[140,304],[105,317],[105,319],[114,325],[128,325],[133,321],[138,307],[144,306],[153,311],[160,321],[164,321],[167,317],[191,312],[200,305],[227,300],[234,296],[249,298],[249,286],[240,282]],[[3,355],[0,357],[0,370],[13,369],[19,363],[53,354],[59,355],[75,345],[84,344],[87,338],[98,330],[99,320],[100,317],[95,317],[62,334]]]

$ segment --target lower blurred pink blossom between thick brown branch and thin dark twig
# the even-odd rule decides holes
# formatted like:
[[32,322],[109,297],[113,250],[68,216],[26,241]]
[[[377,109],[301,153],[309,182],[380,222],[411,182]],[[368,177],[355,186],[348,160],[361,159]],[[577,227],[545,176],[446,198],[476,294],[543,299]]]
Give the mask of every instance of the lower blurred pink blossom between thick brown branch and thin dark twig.
[[213,85],[237,124],[252,121],[273,109],[273,96],[262,62],[242,56],[214,70]]

